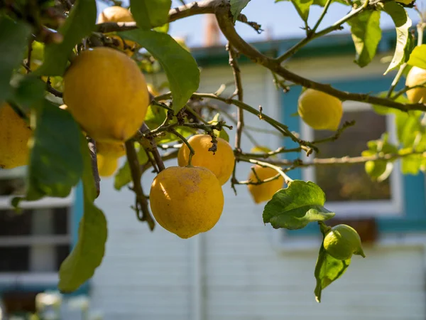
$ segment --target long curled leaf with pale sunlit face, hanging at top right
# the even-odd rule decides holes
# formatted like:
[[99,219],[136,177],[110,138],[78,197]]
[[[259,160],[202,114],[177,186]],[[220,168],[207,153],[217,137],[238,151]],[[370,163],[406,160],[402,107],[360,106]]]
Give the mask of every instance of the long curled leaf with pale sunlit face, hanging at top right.
[[383,10],[391,16],[396,27],[395,54],[388,70],[384,73],[386,75],[389,71],[398,68],[408,60],[410,52],[413,49],[413,36],[411,36],[409,31],[412,22],[403,6],[397,4],[395,1],[389,1],[383,4]]

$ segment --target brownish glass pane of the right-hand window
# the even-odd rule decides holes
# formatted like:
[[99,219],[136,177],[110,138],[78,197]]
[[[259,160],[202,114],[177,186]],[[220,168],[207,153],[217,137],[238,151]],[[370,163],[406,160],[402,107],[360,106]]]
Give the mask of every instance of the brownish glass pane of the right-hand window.
[[[334,142],[320,144],[318,158],[359,156],[367,149],[367,142],[380,139],[386,132],[386,117],[371,110],[344,112],[344,121],[355,120],[354,127],[346,129]],[[329,137],[330,133],[315,131],[315,140]],[[389,179],[373,182],[364,170],[364,164],[342,166],[316,166],[317,184],[324,190],[327,201],[365,201],[391,198]]]

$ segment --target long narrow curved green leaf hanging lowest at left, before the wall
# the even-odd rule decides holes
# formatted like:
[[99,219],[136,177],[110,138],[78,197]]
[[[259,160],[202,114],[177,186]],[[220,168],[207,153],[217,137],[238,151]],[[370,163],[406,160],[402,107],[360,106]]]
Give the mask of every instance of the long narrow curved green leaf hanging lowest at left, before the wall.
[[89,148],[84,137],[80,137],[81,152],[84,158],[83,197],[84,215],[78,229],[78,240],[59,270],[58,288],[61,292],[74,292],[90,279],[101,265],[107,242],[107,219],[102,210],[94,206],[97,196],[92,174]]

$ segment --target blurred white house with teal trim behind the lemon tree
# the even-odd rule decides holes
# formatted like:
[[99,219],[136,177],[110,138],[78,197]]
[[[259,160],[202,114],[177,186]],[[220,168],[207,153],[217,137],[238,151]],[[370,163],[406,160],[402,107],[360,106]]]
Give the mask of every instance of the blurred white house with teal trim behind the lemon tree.
[[[264,53],[277,54],[296,41],[254,45]],[[361,69],[352,62],[351,36],[338,34],[312,41],[287,65],[342,90],[381,92],[393,77],[383,73],[394,48],[395,31],[384,31],[377,57]],[[200,92],[215,92],[220,84],[232,81],[223,47],[193,48],[192,53],[202,68]],[[323,132],[307,128],[293,116],[300,87],[284,93],[275,89],[268,70],[243,58],[240,65],[249,105],[261,105],[265,114],[282,119],[302,139],[323,137]],[[345,102],[344,108],[345,119],[356,119],[357,125],[335,144],[324,145],[324,157],[359,154],[368,140],[394,129],[391,116],[374,114],[368,105]],[[283,145],[281,137],[265,133],[270,128],[257,117],[246,113],[246,125],[256,128],[251,134],[260,144]],[[234,132],[229,132],[231,142]],[[245,136],[242,147],[251,148]],[[166,165],[176,163],[171,160]],[[80,292],[89,294],[92,306],[102,310],[107,320],[426,319],[425,176],[403,176],[397,165],[378,187],[366,179],[363,166],[345,168],[290,172],[292,178],[317,182],[327,194],[326,207],[337,212],[337,219],[373,230],[364,233],[371,237],[364,244],[366,258],[352,259],[344,276],[324,290],[321,304],[313,294],[321,242],[317,226],[293,232],[273,230],[263,224],[263,205],[253,204],[246,186],[237,186],[235,196],[229,183],[223,187],[225,207],[219,223],[207,233],[182,240],[159,225],[151,233],[130,208],[133,193],[125,189],[117,193],[113,179],[102,180],[97,205],[108,220],[107,251],[101,267]],[[238,178],[245,179],[249,170],[249,165],[239,164]],[[0,178],[11,181],[20,173],[0,171]],[[146,190],[152,179],[152,174],[144,176]],[[27,292],[31,299],[31,292],[55,288],[58,263],[77,238],[81,189],[63,201],[32,204],[28,213],[17,218],[26,231],[13,236],[14,222],[4,218],[8,191],[1,191],[5,196],[0,198],[0,290],[23,301],[25,296],[16,292]]]

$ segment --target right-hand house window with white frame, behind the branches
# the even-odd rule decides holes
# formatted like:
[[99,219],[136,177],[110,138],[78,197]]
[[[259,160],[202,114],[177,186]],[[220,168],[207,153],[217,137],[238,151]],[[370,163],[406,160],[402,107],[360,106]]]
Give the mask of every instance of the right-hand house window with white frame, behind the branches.
[[[320,144],[320,158],[359,156],[367,149],[367,142],[380,139],[388,129],[394,131],[391,116],[381,116],[371,110],[370,105],[360,102],[345,102],[342,123],[355,120],[354,127],[346,129],[334,142]],[[332,133],[317,131],[302,123],[303,139],[317,140]],[[368,130],[366,129],[368,128]],[[395,137],[391,134],[391,141]],[[310,161],[305,156],[305,161]],[[373,182],[364,170],[364,164],[315,166],[303,169],[305,180],[315,181],[327,198],[327,208],[339,215],[371,216],[399,215],[402,211],[401,178],[398,163],[391,176],[382,182]]]

